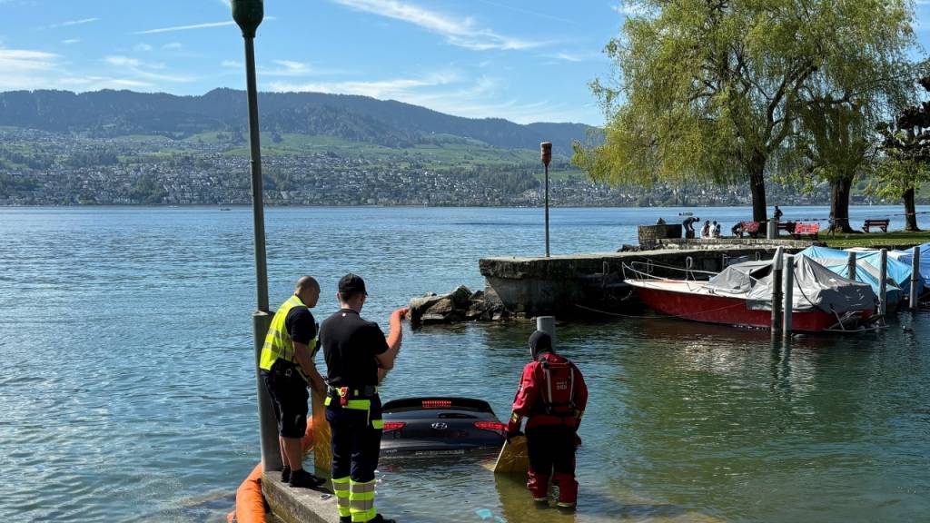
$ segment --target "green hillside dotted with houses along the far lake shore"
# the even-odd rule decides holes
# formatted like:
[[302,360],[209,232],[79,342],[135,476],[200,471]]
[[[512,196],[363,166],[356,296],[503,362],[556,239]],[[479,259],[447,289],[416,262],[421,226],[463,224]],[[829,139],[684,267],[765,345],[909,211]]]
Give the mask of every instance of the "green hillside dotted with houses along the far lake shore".
[[[7,128],[0,145],[0,206],[245,205],[249,163],[217,141],[88,139]],[[262,162],[268,205],[524,207],[543,200],[541,166],[367,159],[326,152],[268,155]],[[828,201],[826,187],[798,194],[772,185],[785,205]],[[561,160],[550,181],[559,207],[745,205],[745,185],[610,187]],[[855,203],[870,199],[855,195]]]

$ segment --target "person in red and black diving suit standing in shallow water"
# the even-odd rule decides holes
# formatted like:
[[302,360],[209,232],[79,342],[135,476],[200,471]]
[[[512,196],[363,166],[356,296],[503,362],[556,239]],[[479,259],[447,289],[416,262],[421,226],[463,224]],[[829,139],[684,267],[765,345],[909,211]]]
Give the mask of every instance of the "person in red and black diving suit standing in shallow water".
[[556,505],[574,508],[578,501],[575,448],[579,441],[578,425],[588,404],[588,387],[578,367],[555,354],[552,338],[546,332],[533,332],[529,349],[533,361],[526,364],[513,398],[507,439],[520,434],[520,422],[528,417],[526,488],[534,501],[548,503],[551,476],[552,483],[559,487]]

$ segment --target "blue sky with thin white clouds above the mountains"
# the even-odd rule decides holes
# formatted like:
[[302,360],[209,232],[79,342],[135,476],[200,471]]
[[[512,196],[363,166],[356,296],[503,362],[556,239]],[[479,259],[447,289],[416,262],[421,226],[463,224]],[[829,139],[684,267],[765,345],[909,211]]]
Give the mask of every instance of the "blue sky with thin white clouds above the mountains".
[[[930,0],[917,34],[930,48]],[[518,123],[603,114],[588,83],[620,0],[266,0],[259,88],[361,94]],[[228,0],[0,0],[0,90],[245,88]]]

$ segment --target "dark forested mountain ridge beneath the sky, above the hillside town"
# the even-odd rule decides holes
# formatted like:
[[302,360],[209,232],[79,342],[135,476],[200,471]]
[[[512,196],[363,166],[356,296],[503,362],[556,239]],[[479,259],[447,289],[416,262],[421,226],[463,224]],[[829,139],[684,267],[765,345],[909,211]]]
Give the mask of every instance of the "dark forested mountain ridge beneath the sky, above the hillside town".
[[[551,141],[570,154],[595,127],[572,123],[515,124],[501,118],[464,118],[400,101],[325,93],[259,93],[263,131],[325,135],[405,148],[431,135],[452,135],[505,149],[538,150]],[[201,132],[247,131],[246,92],[218,88],[202,96],[128,90],[73,93],[61,90],[0,93],[0,126],[93,137],[161,135],[183,139]]]

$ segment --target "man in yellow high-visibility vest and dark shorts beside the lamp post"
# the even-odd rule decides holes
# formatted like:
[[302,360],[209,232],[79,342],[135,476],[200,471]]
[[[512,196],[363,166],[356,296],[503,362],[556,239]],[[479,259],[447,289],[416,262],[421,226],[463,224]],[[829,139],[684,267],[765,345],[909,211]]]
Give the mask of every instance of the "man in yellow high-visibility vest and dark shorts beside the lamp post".
[[322,482],[303,470],[300,447],[300,439],[307,430],[307,385],[321,394],[326,390],[326,382],[312,361],[316,321],[310,309],[319,299],[320,285],[311,276],[302,276],[294,295],[274,314],[259,359],[261,380],[272,398],[274,417],[278,420],[284,463],[281,480],[291,487],[312,488]]

